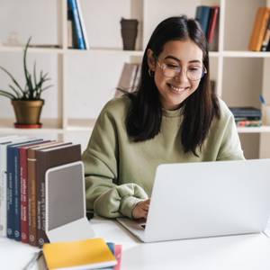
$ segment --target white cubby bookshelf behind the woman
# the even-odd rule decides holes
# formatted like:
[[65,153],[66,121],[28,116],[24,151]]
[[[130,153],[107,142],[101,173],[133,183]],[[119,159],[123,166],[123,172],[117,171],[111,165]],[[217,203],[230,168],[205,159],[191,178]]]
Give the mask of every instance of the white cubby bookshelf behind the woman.
[[[201,4],[220,5],[219,50],[210,52],[211,79],[216,81],[217,93],[229,106],[260,107],[259,94],[270,103],[270,52],[247,50],[257,8],[270,6],[270,0],[81,0],[88,50],[67,49],[66,0],[25,0],[20,4],[25,14],[21,23],[13,20],[14,15],[22,17],[17,1],[2,3],[0,23],[6,27],[0,30],[0,62],[14,76],[23,79],[23,47],[1,45],[10,32],[17,32],[22,42],[32,35],[32,43],[56,44],[59,48],[29,49],[30,67],[36,59],[38,70],[48,71],[54,85],[43,95],[43,128],[14,129],[13,108],[1,97],[0,135],[71,139],[84,149],[95,118],[114,94],[123,63],[140,61],[150,33],[162,19],[179,14],[194,16]],[[139,20],[136,50],[121,49],[121,17]],[[0,88],[8,82],[0,73]],[[270,126],[238,128],[238,132],[247,158],[270,157]]]

